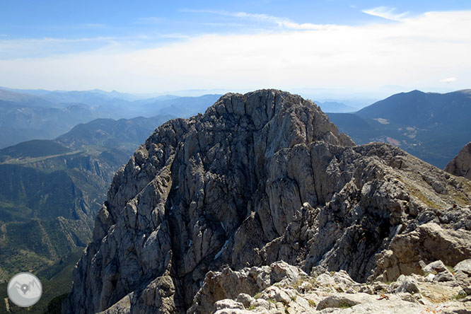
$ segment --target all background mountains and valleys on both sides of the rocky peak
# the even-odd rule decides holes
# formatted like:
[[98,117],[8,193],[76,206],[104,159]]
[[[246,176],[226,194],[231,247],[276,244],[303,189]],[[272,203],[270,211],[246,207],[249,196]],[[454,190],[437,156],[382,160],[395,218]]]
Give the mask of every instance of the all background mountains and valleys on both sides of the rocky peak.
[[[0,282],[31,269],[68,289],[118,168],[158,125],[204,112],[218,98],[0,89]],[[470,90],[400,93],[357,112],[319,105],[356,144],[388,142],[440,168],[471,140]]]

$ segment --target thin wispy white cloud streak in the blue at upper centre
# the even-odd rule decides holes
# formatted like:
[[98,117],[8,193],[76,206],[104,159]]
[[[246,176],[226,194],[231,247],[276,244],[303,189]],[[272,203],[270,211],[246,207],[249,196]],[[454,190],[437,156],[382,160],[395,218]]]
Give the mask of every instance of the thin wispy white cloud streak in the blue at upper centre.
[[257,22],[266,22],[274,25],[278,25],[280,28],[286,28],[288,30],[322,30],[325,28],[332,28],[334,25],[325,24],[313,24],[313,23],[296,23],[291,21],[289,18],[281,18],[278,16],[270,16],[263,13],[247,13],[247,12],[229,12],[219,10],[184,10],[185,12],[191,13],[210,13],[219,16],[231,16],[233,18],[245,18]]

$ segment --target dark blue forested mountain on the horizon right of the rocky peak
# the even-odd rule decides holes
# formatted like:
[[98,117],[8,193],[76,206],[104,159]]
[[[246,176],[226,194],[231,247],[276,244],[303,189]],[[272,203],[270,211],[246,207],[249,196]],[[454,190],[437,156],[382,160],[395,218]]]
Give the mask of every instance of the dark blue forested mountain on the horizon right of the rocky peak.
[[471,90],[399,93],[358,112],[328,115],[357,144],[385,141],[438,168],[471,140]]

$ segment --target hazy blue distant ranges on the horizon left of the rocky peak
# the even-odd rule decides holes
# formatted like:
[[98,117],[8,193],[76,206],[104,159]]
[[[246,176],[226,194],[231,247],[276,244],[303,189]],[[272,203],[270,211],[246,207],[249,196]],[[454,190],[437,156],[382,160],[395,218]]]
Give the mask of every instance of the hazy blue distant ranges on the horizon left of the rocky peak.
[[130,119],[204,112],[220,95],[178,97],[93,91],[13,90],[0,88],[0,149],[31,139],[54,139],[79,123],[97,118]]

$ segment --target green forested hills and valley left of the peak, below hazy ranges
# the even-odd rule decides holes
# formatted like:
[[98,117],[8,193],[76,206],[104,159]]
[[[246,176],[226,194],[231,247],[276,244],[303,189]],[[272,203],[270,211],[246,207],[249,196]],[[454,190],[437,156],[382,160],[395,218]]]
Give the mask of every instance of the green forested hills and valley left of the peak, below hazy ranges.
[[[69,291],[115,172],[168,119],[93,120],[54,140],[0,150],[0,282],[37,274],[45,292],[35,313]],[[11,313],[24,310],[11,306]]]

